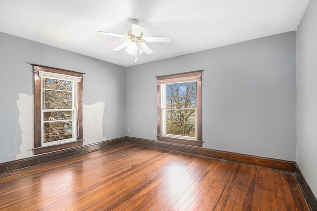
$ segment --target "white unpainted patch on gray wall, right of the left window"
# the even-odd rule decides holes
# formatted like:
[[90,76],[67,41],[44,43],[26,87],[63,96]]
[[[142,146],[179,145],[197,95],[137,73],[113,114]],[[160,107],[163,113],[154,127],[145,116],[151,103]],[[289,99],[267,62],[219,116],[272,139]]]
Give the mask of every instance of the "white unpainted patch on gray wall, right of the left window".
[[83,139],[84,145],[105,141],[103,137],[103,117],[105,103],[83,105]]

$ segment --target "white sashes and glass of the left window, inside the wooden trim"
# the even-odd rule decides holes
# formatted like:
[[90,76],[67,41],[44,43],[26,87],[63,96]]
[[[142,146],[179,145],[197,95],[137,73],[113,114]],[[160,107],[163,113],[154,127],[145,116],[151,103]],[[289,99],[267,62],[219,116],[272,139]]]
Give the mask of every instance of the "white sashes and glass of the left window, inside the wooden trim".
[[75,141],[77,82],[42,78],[42,146]]

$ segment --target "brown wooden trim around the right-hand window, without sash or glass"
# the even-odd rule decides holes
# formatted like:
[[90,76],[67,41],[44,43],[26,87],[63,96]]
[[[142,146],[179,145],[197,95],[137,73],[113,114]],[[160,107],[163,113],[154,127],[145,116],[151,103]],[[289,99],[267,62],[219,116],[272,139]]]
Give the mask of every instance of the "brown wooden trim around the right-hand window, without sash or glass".
[[[202,76],[203,70],[193,71],[193,72],[185,72],[178,73],[172,75],[163,75],[157,76],[157,124],[158,124],[158,141],[167,141],[172,143],[186,144],[202,147]],[[177,83],[177,82],[188,82],[188,81],[196,81],[196,90],[197,90],[197,98],[196,98],[196,138],[193,140],[192,138],[182,139],[179,137],[171,137],[167,135],[162,135],[162,113],[161,113],[161,85],[168,83]]]

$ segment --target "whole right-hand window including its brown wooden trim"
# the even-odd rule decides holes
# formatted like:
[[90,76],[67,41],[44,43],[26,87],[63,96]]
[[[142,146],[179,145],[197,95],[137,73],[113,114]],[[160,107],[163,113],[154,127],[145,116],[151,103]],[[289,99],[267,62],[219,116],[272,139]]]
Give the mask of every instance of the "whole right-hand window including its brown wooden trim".
[[158,140],[202,146],[202,71],[157,77]]

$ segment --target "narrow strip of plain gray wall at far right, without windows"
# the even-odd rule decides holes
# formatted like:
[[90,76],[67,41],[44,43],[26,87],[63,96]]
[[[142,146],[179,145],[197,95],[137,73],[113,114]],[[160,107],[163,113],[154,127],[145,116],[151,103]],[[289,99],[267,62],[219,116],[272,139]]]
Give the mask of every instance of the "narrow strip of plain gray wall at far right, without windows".
[[317,196],[317,0],[297,30],[297,163]]

